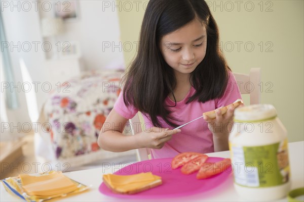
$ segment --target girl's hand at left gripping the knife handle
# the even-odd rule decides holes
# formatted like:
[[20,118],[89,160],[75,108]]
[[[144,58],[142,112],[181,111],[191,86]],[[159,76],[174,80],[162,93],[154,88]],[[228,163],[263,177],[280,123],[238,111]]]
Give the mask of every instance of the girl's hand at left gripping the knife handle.
[[137,134],[137,137],[141,147],[160,149],[172,138],[173,134],[180,131],[180,129],[169,130],[168,128],[153,127]]

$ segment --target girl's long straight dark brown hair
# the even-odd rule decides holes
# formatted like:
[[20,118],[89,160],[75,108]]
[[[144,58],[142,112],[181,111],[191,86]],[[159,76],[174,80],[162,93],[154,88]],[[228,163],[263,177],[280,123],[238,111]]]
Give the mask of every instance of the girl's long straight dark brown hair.
[[149,115],[154,126],[162,127],[159,118],[177,126],[170,115],[165,99],[173,93],[176,78],[165,62],[161,38],[198,17],[206,26],[207,50],[204,60],[191,73],[191,84],[196,89],[187,103],[205,103],[223,95],[230,70],[220,51],[219,32],[208,5],[203,0],[150,0],[141,25],[139,48],[134,61],[124,76],[124,102]]

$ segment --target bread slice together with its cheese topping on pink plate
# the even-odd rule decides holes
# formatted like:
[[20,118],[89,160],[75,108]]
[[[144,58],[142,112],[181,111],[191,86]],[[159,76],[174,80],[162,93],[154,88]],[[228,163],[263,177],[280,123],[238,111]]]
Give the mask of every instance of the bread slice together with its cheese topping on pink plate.
[[162,178],[152,173],[134,175],[103,175],[103,182],[115,193],[134,194],[162,184]]

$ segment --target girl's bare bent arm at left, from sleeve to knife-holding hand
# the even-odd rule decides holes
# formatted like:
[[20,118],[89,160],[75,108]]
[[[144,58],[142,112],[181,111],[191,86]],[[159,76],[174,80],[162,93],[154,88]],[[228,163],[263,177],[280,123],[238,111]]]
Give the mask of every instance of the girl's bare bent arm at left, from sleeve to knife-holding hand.
[[128,119],[114,109],[106,118],[98,136],[98,145],[108,151],[122,152],[137,148],[162,148],[172,135],[180,130],[153,127],[135,135],[122,134]]

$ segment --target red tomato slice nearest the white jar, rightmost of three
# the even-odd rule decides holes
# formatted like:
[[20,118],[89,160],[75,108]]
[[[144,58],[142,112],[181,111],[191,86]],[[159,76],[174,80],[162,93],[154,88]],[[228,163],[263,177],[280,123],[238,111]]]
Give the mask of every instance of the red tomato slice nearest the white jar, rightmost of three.
[[223,159],[215,163],[203,163],[201,169],[197,174],[197,179],[206,179],[213,175],[224,172],[231,167],[230,159]]

